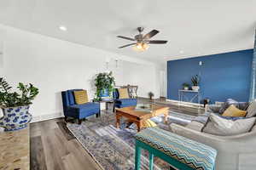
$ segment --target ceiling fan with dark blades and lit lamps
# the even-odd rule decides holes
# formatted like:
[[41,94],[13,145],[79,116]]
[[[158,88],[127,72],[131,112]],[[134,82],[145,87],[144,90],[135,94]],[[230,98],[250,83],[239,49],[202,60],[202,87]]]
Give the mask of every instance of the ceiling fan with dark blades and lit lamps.
[[124,37],[124,36],[118,36],[120,38],[126,39],[126,40],[131,40],[131,41],[135,41],[133,43],[129,43],[126,44],[124,46],[121,46],[119,48],[126,48],[129,47],[131,45],[135,45],[134,48],[138,51],[144,51],[146,49],[148,49],[148,44],[149,43],[154,43],[154,44],[164,44],[167,41],[165,40],[149,40],[151,37],[154,37],[157,33],[159,33],[159,31],[157,30],[152,30],[150,32],[148,32],[148,34],[143,35],[144,28],[143,27],[137,27],[137,31],[139,31],[139,34],[136,35],[134,38],[131,37]]

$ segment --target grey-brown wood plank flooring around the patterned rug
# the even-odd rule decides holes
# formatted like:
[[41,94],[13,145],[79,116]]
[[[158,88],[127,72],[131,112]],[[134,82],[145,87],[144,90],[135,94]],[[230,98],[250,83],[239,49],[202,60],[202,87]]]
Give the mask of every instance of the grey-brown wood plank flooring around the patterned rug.
[[[173,111],[197,115],[201,110],[193,107],[178,107],[171,102],[158,100]],[[150,102],[139,99],[139,102]],[[111,108],[109,108],[110,110]],[[64,119],[58,118],[30,125],[32,170],[96,170],[102,169],[73,134],[65,127]]]

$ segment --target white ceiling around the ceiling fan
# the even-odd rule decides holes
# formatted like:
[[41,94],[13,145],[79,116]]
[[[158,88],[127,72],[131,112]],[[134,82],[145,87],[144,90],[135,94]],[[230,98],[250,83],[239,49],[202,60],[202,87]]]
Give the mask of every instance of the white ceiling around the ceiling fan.
[[[0,23],[102,48],[164,61],[253,48],[256,0],[0,0]],[[66,26],[67,31],[60,31]],[[136,52],[116,36],[133,37],[137,26],[160,31],[147,51]],[[183,53],[180,53],[183,51]]]

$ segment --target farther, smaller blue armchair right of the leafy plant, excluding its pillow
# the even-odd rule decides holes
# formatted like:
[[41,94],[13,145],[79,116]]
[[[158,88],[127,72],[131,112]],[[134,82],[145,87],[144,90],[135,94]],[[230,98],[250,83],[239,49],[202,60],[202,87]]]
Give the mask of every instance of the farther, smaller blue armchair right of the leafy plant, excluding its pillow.
[[123,107],[130,107],[136,106],[137,99],[135,98],[128,98],[128,99],[119,99],[119,91],[118,88],[113,90],[113,111],[115,108],[123,108]]

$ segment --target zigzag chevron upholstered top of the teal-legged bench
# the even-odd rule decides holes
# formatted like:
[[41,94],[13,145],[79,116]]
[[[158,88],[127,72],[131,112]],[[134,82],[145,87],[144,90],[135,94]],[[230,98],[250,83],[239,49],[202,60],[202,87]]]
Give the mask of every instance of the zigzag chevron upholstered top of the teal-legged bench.
[[136,139],[189,165],[189,167],[199,170],[214,169],[217,150],[206,144],[186,139],[158,127],[148,127],[137,133]]

